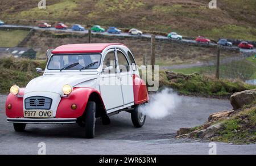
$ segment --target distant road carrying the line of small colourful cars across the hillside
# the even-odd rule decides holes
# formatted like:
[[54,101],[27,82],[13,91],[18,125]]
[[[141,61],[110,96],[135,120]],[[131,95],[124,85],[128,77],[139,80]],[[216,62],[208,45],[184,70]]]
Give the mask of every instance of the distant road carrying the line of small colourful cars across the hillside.
[[[35,26],[27,26],[27,25],[9,25],[9,24],[5,24],[5,25],[0,25],[0,27],[6,27],[6,28],[34,28],[36,30],[48,30],[48,31],[61,31],[61,32],[75,32],[75,33],[88,33],[88,30],[85,31],[73,31],[72,29],[55,29],[54,27],[51,28],[39,28],[39,27],[35,27]],[[113,33],[108,33],[108,32],[92,32],[93,34],[102,34],[102,35],[106,35],[106,36],[130,36],[130,37],[138,37],[138,35],[130,35],[129,33],[125,33],[125,32],[121,32],[119,34],[113,34]],[[141,35],[141,37],[151,37],[151,34],[143,34]],[[156,39],[168,39],[167,36],[160,36],[160,35],[156,35]],[[175,39],[171,39],[171,40],[175,40]],[[196,43],[195,40],[189,40],[189,39],[182,39],[182,41],[185,42],[191,42],[191,43]],[[217,45],[215,43],[210,43],[210,45]],[[237,48],[237,46],[233,46],[234,48]],[[244,53],[249,53],[249,52],[253,52],[256,53],[256,48],[254,49],[240,49],[240,52],[244,52]]]

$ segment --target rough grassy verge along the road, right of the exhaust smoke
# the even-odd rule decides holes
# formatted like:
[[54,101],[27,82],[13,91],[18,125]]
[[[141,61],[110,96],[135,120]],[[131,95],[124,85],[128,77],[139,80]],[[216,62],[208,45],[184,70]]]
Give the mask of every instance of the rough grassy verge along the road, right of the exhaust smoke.
[[184,95],[230,96],[234,92],[256,88],[240,80],[215,79],[210,76],[177,74],[166,71],[159,73],[159,86],[171,87]]

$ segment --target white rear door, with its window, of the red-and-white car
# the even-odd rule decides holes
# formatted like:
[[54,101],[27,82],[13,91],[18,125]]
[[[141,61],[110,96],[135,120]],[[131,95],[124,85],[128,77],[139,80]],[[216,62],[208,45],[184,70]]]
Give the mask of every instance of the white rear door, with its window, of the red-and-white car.
[[128,57],[124,52],[117,49],[118,72],[123,93],[123,103],[125,105],[134,103],[133,94],[133,71],[129,66]]

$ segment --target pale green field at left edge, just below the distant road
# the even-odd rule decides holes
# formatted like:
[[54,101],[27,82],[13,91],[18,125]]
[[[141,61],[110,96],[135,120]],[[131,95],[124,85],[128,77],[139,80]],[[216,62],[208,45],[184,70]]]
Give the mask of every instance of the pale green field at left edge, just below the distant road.
[[14,47],[19,44],[20,41],[27,36],[29,31],[23,30],[9,30],[2,31],[0,30],[0,46],[1,47]]

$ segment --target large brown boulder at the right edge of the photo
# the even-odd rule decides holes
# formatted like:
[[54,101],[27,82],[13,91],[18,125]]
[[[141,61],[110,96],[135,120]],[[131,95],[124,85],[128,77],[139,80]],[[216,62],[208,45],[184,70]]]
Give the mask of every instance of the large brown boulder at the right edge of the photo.
[[230,104],[234,109],[242,108],[256,100],[256,89],[236,92],[230,96]]

